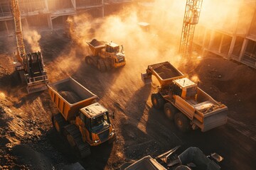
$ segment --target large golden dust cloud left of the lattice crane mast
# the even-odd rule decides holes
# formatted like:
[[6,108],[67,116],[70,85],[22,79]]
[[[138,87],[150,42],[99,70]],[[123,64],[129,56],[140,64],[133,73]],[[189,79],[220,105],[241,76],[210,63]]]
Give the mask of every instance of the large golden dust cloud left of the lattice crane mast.
[[[87,47],[86,42],[93,38],[124,45],[127,64],[145,67],[154,64],[156,59],[179,64],[181,58],[176,54],[184,5],[180,1],[156,1],[122,8],[119,13],[105,18],[74,16],[68,18],[74,26],[70,34],[82,47]],[[149,28],[140,26],[140,22],[149,23]]]

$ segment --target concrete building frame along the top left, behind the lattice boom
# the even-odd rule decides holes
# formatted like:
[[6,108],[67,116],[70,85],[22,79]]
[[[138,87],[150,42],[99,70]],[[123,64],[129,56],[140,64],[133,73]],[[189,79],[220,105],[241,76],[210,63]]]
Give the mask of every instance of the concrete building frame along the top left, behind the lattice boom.
[[[90,13],[91,16],[105,15],[105,8],[110,5],[129,1],[107,0],[20,0],[18,4],[24,27],[60,28],[68,16]],[[11,15],[11,1],[0,2],[0,32],[14,33],[14,21]]]

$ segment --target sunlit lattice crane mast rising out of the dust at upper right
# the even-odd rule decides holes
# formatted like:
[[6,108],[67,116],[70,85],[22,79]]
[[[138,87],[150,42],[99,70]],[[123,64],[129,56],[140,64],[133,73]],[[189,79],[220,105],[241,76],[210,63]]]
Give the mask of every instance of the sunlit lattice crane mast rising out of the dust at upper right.
[[186,0],[179,53],[189,59],[192,52],[193,35],[199,21],[203,0]]

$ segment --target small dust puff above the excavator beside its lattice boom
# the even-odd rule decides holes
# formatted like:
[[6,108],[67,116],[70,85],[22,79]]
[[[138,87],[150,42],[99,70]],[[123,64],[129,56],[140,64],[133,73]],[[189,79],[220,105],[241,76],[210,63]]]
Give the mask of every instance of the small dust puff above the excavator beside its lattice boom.
[[24,30],[23,35],[24,39],[27,40],[28,44],[31,46],[32,52],[41,51],[41,47],[39,45],[41,35],[38,34],[36,30]]

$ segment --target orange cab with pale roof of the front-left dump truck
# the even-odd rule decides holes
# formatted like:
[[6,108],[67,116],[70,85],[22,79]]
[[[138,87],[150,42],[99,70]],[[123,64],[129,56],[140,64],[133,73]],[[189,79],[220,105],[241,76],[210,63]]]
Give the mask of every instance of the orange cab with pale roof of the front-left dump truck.
[[82,140],[91,146],[100,145],[108,140],[112,142],[115,139],[109,113],[100,103],[81,108],[77,119]]

